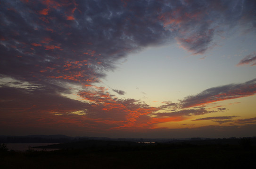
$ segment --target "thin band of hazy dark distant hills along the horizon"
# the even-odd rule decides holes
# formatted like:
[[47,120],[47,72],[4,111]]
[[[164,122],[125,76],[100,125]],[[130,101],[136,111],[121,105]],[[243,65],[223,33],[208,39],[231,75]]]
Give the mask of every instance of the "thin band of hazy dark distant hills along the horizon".
[[[256,137],[248,137],[251,145],[256,145]],[[240,138],[106,138],[69,137],[65,135],[0,136],[0,143],[68,143],[86,140],[129,141],[141,143],[188,143],[195,145],[229,144],[238,145]]]

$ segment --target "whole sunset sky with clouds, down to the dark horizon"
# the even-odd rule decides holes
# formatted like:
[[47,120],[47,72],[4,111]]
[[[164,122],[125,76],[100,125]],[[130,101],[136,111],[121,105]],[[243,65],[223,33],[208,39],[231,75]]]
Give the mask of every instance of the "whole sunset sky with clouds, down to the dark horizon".
[[256,136],[255,0],[0,0],[0,135]]

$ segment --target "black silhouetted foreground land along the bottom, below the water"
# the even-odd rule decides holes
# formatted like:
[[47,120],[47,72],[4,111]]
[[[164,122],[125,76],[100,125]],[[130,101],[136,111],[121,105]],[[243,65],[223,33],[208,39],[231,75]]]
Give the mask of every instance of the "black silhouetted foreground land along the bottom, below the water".
[[[241,140],[243,141],[243,140]],[[255,166],[256,146],[87,140],[41,148],[57,151],[6,151],[1,169],[241,169]]]

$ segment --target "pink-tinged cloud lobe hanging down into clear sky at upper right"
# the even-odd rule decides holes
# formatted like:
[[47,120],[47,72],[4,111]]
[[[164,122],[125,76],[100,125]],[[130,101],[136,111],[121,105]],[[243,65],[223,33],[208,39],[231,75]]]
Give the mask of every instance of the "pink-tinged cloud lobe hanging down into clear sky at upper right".
[[[182,6],[159,15],[158,19],[163,22],[165,29],[179,32],[175,39],[182,48],[193,54],[203,54],[210,47],[215,31],[210,27],[212,21],[207,18],[207,10],[204,7],[186,11]],[[201,25],[203,22],[204,26]]]

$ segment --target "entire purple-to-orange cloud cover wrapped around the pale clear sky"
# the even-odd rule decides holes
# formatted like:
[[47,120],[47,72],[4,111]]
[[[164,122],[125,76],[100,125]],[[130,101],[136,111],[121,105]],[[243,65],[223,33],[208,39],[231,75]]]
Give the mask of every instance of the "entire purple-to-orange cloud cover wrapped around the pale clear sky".
[[[177,111],[180,104],[170,102],[155,108],[118,99],[95,84],[116,69],[116,61],[146,47],[178,42],[192,54],[203,54],[214,46],[221,27],[253,25],[250,30],[255,30],[255,6],[247,0],[1,0],[0,76],[9,78],[0,88],[1,124],[106,131],[210,113],[204,108]],[[207,89],[181,105],[249,96],[254,86],[255,80]],[[167,108],[175,109],[173,114],[149,116]]]

